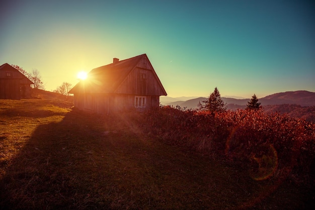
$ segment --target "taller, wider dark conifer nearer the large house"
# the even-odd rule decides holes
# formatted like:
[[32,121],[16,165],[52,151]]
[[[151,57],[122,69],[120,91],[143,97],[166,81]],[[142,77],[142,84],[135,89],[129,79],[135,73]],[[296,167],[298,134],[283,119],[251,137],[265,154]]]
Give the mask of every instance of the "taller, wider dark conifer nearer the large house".
[[202,103],[199,102],[198,107],[201,110],[208,110],[210,112],[224,112],[226,110],[220,92],[216,87],[207,100],[202,101]]

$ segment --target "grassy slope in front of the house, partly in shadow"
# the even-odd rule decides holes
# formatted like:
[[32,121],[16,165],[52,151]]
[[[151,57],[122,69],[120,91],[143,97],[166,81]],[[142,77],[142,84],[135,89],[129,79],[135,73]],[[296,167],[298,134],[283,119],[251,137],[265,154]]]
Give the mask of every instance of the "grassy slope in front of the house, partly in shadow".
[[[306,209],[290,180],[159,141],[128,114],[0,100],[2,209]],[[145,116],[143,116],[145,117]]]

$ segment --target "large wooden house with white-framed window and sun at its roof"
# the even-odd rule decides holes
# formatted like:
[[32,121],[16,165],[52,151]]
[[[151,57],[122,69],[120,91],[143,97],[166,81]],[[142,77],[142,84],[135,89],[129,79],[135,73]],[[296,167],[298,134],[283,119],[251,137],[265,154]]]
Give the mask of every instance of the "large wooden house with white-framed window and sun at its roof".
[[146,54],[92,69],[69,93],[74,107],[100,114],[159,107],[167,95]]

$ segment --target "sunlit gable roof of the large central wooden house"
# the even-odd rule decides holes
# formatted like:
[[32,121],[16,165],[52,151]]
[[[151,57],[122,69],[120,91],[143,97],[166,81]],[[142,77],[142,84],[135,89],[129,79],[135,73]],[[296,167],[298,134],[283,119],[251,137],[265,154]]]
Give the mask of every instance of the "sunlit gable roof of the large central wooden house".
[[167,95],[146,54],[141,54],[92,69],[92,71],[88,74],[88,80],[78,82],[69,91],[69,93],[115,93],[115,90],[117,90],[117,88],[123,83],[130,72],[133,71],[143,58],[148,61],[151,69],[153,70],[152,73],[155,79],[159,83],[160,87],[162,87],[165,95]]

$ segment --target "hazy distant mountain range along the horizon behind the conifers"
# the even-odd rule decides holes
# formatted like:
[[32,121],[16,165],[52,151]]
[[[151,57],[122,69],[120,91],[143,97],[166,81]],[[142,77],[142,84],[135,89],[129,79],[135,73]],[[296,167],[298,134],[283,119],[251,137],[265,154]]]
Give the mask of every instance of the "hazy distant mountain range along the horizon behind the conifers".
[[[204,97],[160,97],[160,102],[163,105],[179,105],[180,107],[187,107],[188,109],[198,108],[199,101],[202,102],[207,98]],[[224,103],[226,103],[227,109],[243,109],[246,108],[250,99],[235,99],[222,97]],[[280,104],[296,104],[300,106],[315,106],[315,93],[309,91],[288,91],[284,93],[275,93],[264,98],[260,98],[259,101],[262,106],[267,105],[280,105]]]

